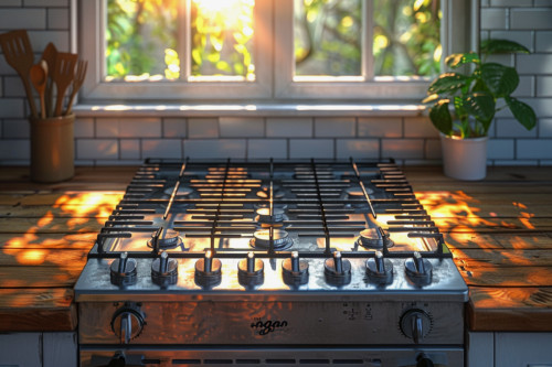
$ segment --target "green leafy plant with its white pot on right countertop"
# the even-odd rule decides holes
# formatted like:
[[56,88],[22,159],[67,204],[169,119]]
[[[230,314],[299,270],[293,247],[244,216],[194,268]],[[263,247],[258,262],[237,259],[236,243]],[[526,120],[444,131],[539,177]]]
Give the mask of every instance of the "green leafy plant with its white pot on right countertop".
[[429,85],[423,102],[433,104],[429,119],[440,132],[447,176],[485,177],[487,134],[497,111],[509,109],[528,130],[534,128],[533,109],[511,96],[519,84],[516,68],[487,61],[489,55],[518,52],[529,53],[529,50],[508,40],[484,41],[479,53],[449,55],[445,63],[453,72],[440,74]]

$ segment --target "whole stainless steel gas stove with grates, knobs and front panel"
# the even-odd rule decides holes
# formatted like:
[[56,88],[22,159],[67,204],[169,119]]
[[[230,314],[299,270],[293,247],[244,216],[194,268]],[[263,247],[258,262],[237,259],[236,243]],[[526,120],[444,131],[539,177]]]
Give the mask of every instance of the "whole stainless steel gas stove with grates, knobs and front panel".
[[393,161],[149,160],[75,295],[81,366],[464,366],[467,287]]

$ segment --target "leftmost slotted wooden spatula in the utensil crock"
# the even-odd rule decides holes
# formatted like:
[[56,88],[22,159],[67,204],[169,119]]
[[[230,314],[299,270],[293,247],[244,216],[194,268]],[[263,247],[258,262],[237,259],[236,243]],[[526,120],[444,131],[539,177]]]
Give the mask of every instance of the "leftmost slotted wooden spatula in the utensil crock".
[[36,117],[36,105],[29,83],[29,72],[34,64],[34,55],[29,41],[29,35],[24,30],[11,31],[0,35],[0,45],[8,64],[18,72],[23,87],[25,88],[26,99],[31,107],[31,115]]

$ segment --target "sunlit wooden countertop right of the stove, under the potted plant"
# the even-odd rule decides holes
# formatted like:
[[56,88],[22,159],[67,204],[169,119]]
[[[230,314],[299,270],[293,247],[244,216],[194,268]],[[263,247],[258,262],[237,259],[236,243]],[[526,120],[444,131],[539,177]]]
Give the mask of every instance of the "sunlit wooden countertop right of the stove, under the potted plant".
[[471,331],[552,331],[552,169],[489,168],[458,182],[405,168],[469,287]]

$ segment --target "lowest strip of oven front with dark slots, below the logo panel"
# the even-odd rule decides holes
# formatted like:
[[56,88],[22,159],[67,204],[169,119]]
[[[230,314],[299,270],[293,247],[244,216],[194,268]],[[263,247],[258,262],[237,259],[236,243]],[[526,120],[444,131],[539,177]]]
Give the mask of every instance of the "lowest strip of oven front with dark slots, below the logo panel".
[[413,367],[422,357],[435,366],[464,367],[461,348],[144,348],[81,349],[81,366],[107,366],[125,359],[138,366],[342,366]]

